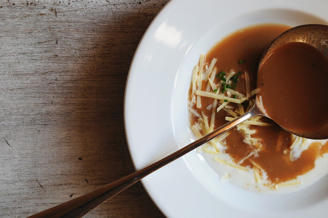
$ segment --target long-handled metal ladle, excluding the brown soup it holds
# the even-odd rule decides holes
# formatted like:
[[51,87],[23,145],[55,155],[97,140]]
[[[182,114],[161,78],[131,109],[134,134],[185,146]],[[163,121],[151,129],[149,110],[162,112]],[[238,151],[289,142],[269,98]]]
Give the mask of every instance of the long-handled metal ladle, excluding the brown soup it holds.
[[[271,44],[268,46],[262,58],[260,60],[259,66],[261,66],[263,60],[271,54],[273,49],[277,46],[287,43],[287,42],[304,42],[308,43],[311,46],[317,48],[324,57],[328,58],[328,26],[326,25],[318,25],[318,24],[310,24],[310,25],[302,25],[294,27],[290,30],[279,35]],[[267,114],[264,112],[263,108],[259,104],[259,100],[256,97],[254,106],[242,116],[236,118],[233,121],[228,122],[227,124],[215,129],[213,132],[207,134],[206,136],[192,142],[191,144],[179,149],[178,151],[174,152],[173,154],[149,165],[146,166],[122,179],[119,179],[113,183],[105,185],[95,191],[92,191],[88,194],[82,195],[71,201],[66,203],[57,205],[55,207],[51,207],[50,209],[44,210],[39,212],[35,215],[30,216],[31,218],[40,218],[40,217],[47,217],[47,218],[54,218],[54,217],[82,217],[87,214],[89,211],[94,209],[95,207],[101,205],[114,195],[118,194],[122,190],[126,189],[130,185],[138,182],[145,176],[149,175],[150,173],[154,172],[155,170],[165,166],[168,163],[171,163],[175,159],[185,155],[191,150],[199,147],[200,145],[209,142],[210,140],[214,139],[215,137],[231,130],[232,128],[236,127],[238,124],[252,118],[255,116],[265,116],[268,117]],[[283,126],[281,126],[284,128]],[[285,128],[284,128],[285,129]],[[286,129],[289,131],[288,129]],[[291,132],[291,131],[289,131]],[[293,132],[291,132],[293,133]],[[295,134],[295,133],[293,133]],[[328,130],[327,125],[322,127],[321,129],[316,129],[313,131],[304,132],[302,134],[295,134],[304,138],[311,138],[311,139],[327,139],[328,138]]]

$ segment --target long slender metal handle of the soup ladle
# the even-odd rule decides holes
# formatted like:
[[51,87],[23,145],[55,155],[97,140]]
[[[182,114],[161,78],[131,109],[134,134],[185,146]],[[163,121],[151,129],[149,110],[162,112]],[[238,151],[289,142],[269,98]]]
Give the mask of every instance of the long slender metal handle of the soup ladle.
[[200,145],[211,141],[215,137],[227,132],[228,130],[234,128],[236,125],[242,123],[243,121],[258,115],[254,113],[254,111],[255,110],[253,107],[244,115],[215,129],[213,132],[207,134],[206,136],[196,140],[195,142],[190,143],[189,145],[177,150],[173,154],[170,154],[169,156],[155,163],[152,163],[128,176],[123,177],[122,179],[116,180],[115,182],[98,188],[97,190],[94,190],[88,194],[72,199],[71,201],[65,202],[63,204],[51,207],[47,210],[34,214],[30,216],[30,218],[82,217],[95,207],[101,205],[114,195],[123,191],[130,185],[133,185],[134,183],[138,182],[139,180],[154,172],[155,170],[161,168],[162,166],[165,166],[168,163],[171,163],[175,159],[187,154],[189,151],[194,150]]

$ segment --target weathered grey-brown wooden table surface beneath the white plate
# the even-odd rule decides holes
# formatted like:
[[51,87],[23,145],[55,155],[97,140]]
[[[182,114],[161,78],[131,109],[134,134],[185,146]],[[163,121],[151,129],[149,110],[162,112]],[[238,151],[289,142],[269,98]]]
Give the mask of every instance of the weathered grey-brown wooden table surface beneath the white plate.
[[[134,171],[123,97],[163,0],[0,1],[0,216],[25,217]],[[139,183],[86,217],[164,217]]]

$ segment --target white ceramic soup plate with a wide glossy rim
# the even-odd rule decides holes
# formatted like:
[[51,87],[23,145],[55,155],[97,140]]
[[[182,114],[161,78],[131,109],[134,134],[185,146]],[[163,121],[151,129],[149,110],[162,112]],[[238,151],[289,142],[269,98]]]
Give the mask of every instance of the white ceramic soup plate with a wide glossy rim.
[[[200,53],[252,24],[327,24],[327,9],[326,0],[169,2],[144,34],[127,80],[124,119],[135,168],[192,142],[187,91]],[[167,217],[324,217],[328,207],[328,176],[292,194],[259,195],[221,183],[196,151],[142,183]]]

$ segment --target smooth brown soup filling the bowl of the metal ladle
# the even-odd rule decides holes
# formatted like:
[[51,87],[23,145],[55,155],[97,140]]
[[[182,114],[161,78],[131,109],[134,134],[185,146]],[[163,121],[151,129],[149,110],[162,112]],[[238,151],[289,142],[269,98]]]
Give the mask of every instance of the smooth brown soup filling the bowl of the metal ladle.
[[328,118],[328,62],[314,47],[289,42],[261,64],[257,77],[258,95],[266,113],[292,132],[324,126]]

